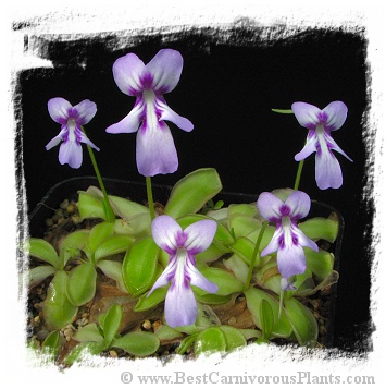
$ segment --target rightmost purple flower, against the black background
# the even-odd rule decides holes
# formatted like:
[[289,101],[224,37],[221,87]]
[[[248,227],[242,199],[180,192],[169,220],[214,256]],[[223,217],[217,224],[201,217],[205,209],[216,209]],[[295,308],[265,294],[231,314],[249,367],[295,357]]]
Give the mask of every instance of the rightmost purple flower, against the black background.
[[313,151],[315,157],[315,179],[321,190],[338,189],[343,184],[341,169],[332,150],[336,150],[352,162],[352,159],[336,144],[332,131],[339,130],[347,118],[347,107],[341,101],[333,101],[324,109],[307,102],[294,102],[292,111],[299,124],[309,129],[303,149],[295,156],[300,161]]

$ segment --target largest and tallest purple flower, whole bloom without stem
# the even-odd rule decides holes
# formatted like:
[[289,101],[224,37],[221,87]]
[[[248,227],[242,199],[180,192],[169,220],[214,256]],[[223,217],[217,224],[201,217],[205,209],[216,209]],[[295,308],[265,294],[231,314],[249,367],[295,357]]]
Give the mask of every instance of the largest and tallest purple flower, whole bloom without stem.
[[177,151],[165,120],[184,131],[194,129],[191,122],[174,112],[162,96],[178,84],[183,63],[178,51],[163,49],[147,65],[134,53],[119,58],[113,65],[117,87],[135,96],[136,102],[123,120],[105,131],[114,134],[138,131],[137,167],[145,177],[173,173],[178,168]]

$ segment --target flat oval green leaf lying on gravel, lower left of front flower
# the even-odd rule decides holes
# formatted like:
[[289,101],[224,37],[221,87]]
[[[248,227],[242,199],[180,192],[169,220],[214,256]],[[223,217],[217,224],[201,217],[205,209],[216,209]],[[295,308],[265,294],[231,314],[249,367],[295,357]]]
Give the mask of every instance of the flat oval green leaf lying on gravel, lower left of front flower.
[[111,345],[132,355],[149,356],[159,349],[160,339],[151,332],[128,332],[114,339]]

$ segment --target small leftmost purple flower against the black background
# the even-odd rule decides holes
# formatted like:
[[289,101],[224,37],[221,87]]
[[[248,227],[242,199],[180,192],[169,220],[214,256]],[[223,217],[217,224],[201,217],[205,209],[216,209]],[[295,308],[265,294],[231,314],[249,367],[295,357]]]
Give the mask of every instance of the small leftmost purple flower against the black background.
[[87,124],[97,113],[95,102],[83,100],[73,107],[64,98],[55,97],[48,101],[48,112],[57,123],[62,125],[59,135],[46,145],[46,149],[49,150],[63,142],[59,149],[60,163],[69,163],[73,169],[80,167],[83,160],[80,142],[99,151],[99,148],[82,131],[82,125]]

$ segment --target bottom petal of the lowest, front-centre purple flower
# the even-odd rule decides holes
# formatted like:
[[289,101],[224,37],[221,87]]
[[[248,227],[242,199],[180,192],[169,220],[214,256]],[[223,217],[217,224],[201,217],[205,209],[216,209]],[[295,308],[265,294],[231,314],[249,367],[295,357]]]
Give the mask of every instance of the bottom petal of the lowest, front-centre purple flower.
[[195,294],[187,282],[173,282],[165,299],[165,319],[170,327],[191,326],[197,318]]

